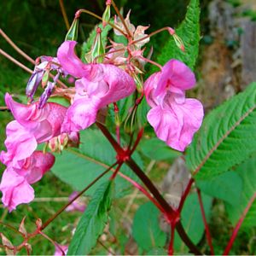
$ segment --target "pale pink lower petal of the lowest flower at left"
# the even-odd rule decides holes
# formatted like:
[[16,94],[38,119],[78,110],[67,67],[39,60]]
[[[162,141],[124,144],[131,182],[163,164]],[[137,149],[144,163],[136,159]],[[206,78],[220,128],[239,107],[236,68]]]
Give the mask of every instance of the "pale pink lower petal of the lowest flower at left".
[[15,210],[18,205],[34,199],[34,189],[24,177],[11,168],[3,172],[0,190],[3,193],[3,205],[9,208],[9,212]]

